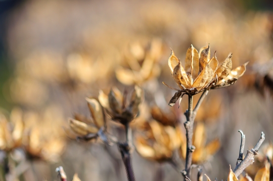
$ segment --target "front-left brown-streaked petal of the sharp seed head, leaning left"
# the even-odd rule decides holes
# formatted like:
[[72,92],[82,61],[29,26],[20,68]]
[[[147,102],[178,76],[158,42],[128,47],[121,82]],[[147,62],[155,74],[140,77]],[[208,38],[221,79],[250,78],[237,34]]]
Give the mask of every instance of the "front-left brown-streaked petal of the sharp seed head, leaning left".
[[174,67],[172,77],[181,89],[191,87],[189,78],[180,62]]

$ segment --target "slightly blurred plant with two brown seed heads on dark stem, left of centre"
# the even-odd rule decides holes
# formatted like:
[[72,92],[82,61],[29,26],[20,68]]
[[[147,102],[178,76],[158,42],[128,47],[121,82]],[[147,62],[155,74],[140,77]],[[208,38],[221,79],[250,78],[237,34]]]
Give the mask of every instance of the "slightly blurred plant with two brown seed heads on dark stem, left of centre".
[[[99,95],[100,103],[96,99],[86,99],[92,113],[92,119],[83,117],[79,120],[70,119],[69,125],[74,132],[81,135],[79,138],[83,140],[88,141],[99,137],[109,145],[117,144],[126,168],[127,178],[128,180],[135,180],[130,156],[133,150],[132,132],[129,123],[139,114],[139,105],[143,97],[142,89],[135,86],[131,97],[128,98],[127,96],[127,92],[122,95],[117,88],[112,88],[108,96],[101,91]],[[124,143],[107,133],[102,106],[113,121],[124,125],[126,135]]]

